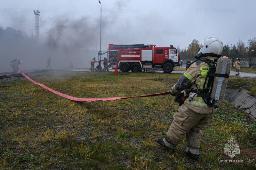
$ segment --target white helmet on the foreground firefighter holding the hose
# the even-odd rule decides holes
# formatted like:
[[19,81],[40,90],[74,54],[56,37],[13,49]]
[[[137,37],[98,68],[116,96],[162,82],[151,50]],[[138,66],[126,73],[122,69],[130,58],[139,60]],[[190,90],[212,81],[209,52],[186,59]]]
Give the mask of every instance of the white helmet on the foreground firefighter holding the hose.
[[220,55],[222,53],[223,45],[217,37],[207,37],[204,39],[204,45],[196,54],[195,58],[200,58],[201,54],[213,53]]

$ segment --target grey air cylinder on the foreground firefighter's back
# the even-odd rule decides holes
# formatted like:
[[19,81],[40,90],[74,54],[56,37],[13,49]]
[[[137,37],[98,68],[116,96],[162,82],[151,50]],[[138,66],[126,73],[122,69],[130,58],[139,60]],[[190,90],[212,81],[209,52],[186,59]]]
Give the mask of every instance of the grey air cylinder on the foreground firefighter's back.
[[223,100],[228,84],[228,76],[230,74],[231,61],[228,57],[220,57],[217,61],[215,74],[225,74],[225,77],[215,76],[212,87],[211,98],[214,100]]

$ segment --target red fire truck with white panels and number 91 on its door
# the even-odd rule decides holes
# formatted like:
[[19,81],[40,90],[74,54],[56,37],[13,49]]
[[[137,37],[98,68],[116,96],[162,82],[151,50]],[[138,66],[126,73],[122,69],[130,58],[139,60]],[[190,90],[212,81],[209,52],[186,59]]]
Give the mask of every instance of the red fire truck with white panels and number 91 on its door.
[[[156,45],[108,45],[108,62],[112,68],[123,72],[140,72],[142,68],[163,68],[165,73],[171,73],[173,67],[180,66],[180,54],[172,45],[156,47]],[[116,65],[117,63],[117,65]]]

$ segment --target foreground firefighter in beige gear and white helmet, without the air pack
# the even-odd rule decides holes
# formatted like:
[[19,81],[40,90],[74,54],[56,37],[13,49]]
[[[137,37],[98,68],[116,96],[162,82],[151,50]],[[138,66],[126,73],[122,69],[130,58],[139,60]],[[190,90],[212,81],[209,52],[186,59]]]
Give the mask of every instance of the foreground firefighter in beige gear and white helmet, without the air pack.
[[[208,58],[216,65],[218,58],[221,57],[222,49],[223,46],[220,39],[209,37],[204,40],[204,46],[202,46],[195,58]],[[185,153],[193,159],[199,157],[202,130],[210,122],[212,114],[216,112],[216,109],[208,107],[202,98],[207,93],[206,90],[204,94],[198,93],[195,95],[198,90],[203,88],[202,84],[205,81],[208,68],[210,68],[209,64],[203,60],[197,60],[190,65],[185,74],[171,88],[170,94],[172,96],[177,96],[180,92],[186,90],[188,98],[173,115],[166,137],[158,139],[158,143],[161,146],[174,150],[186,134],[187,147]],[[207,87],[208,79],[205,83],[205,87]],[[189,102],[192,96],[194,98]]]

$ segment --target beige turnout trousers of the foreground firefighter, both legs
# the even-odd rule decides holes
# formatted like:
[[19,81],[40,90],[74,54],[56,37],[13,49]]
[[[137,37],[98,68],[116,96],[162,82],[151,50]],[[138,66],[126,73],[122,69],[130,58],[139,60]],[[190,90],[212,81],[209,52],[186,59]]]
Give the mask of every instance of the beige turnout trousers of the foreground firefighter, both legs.
[[202,130],[210,122],[212,114],[200,114],[190,110],[185,104],[173,115],[172,121],[164,138],[164,144],[175,149],[181,138],[186,134],[187,149],[199,155],[199,144]]

